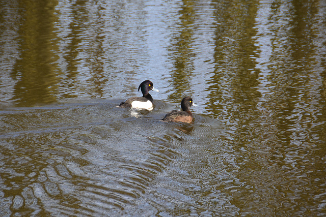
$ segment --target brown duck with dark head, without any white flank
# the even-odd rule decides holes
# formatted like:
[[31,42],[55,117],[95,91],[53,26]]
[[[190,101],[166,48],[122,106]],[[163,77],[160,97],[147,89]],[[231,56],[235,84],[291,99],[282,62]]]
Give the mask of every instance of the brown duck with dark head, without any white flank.
[[181,101],[181,111],[173,110],[165,115],[162,121],[185,122],[193,121],[193,114],[189,110],[190,107],[197,106],[191,97],[185,97]]

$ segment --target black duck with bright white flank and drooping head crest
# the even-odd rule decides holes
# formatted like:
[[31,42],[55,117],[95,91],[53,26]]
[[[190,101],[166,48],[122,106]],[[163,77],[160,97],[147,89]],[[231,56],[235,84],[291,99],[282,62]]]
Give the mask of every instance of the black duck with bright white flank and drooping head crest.
[[152,110],[154,108],[154,100],[148,92],[150,90],[159,92],[159,90],[154,88],[153,82],[151,82],[150,80],[143,81],[139,85],[138,91],[140,89],[143,93],[143,97],[131,97],[129,99],[126,99],[122,103],[120,103],[118,107],[122,107],[122,108],[132,107],[138,109]]

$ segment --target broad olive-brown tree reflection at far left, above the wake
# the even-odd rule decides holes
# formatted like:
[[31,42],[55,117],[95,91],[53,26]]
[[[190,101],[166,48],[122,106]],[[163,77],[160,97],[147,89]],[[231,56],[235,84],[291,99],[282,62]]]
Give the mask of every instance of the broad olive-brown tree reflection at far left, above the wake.
[[20,55],[11,74],[18,80],[13,100],[18,106],[55,102],[60,72],[53,23],[58,21],[55,14],[58,2],[21,1],[19,4],[21,25],[17,41]]

